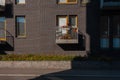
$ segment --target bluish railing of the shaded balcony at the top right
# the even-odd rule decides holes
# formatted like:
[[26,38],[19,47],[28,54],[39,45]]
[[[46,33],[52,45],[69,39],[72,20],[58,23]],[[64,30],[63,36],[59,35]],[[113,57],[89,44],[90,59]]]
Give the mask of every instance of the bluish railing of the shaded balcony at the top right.
[[100,1],[101,1],[101,8],[120,6],[120,0],[100,0]]

